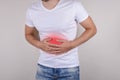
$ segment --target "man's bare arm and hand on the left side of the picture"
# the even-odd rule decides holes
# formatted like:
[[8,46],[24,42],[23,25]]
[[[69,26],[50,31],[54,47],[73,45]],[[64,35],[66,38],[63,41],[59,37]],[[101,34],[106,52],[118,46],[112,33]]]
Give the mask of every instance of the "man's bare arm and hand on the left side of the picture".
[[51,47],[53,44],[48,43],[50,39],[47,38],[41,41],[38,37],[38,31],[35,27],[29,27],[25,25],[25,38],[30,44],[38,49],[42,49],[45,52],[51,53]]

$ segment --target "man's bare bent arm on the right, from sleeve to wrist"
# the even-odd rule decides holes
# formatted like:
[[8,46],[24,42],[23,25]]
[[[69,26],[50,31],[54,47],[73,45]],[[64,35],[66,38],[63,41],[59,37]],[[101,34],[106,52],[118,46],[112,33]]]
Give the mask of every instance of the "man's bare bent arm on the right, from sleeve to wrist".
[[79,36],[73,41],[74,47],[79,46],[82,43],[86,42],[91,37],[93,37],[97,32],[96,26],[91,17],[88,17],[85,21],[80,23],[80,25],[85,29],[85,31],[82,33],[81,36]]

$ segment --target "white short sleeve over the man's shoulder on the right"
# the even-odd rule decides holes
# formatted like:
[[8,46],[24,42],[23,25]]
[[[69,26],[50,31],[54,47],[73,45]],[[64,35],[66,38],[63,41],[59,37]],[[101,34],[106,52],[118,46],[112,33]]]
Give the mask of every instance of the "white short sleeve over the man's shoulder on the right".
[[82,21],[88,18],[87,11],[85,10],[83,5],[78,0],[75,0],[74,6],[75,6],[75,20],[78,23],[81,23]]

